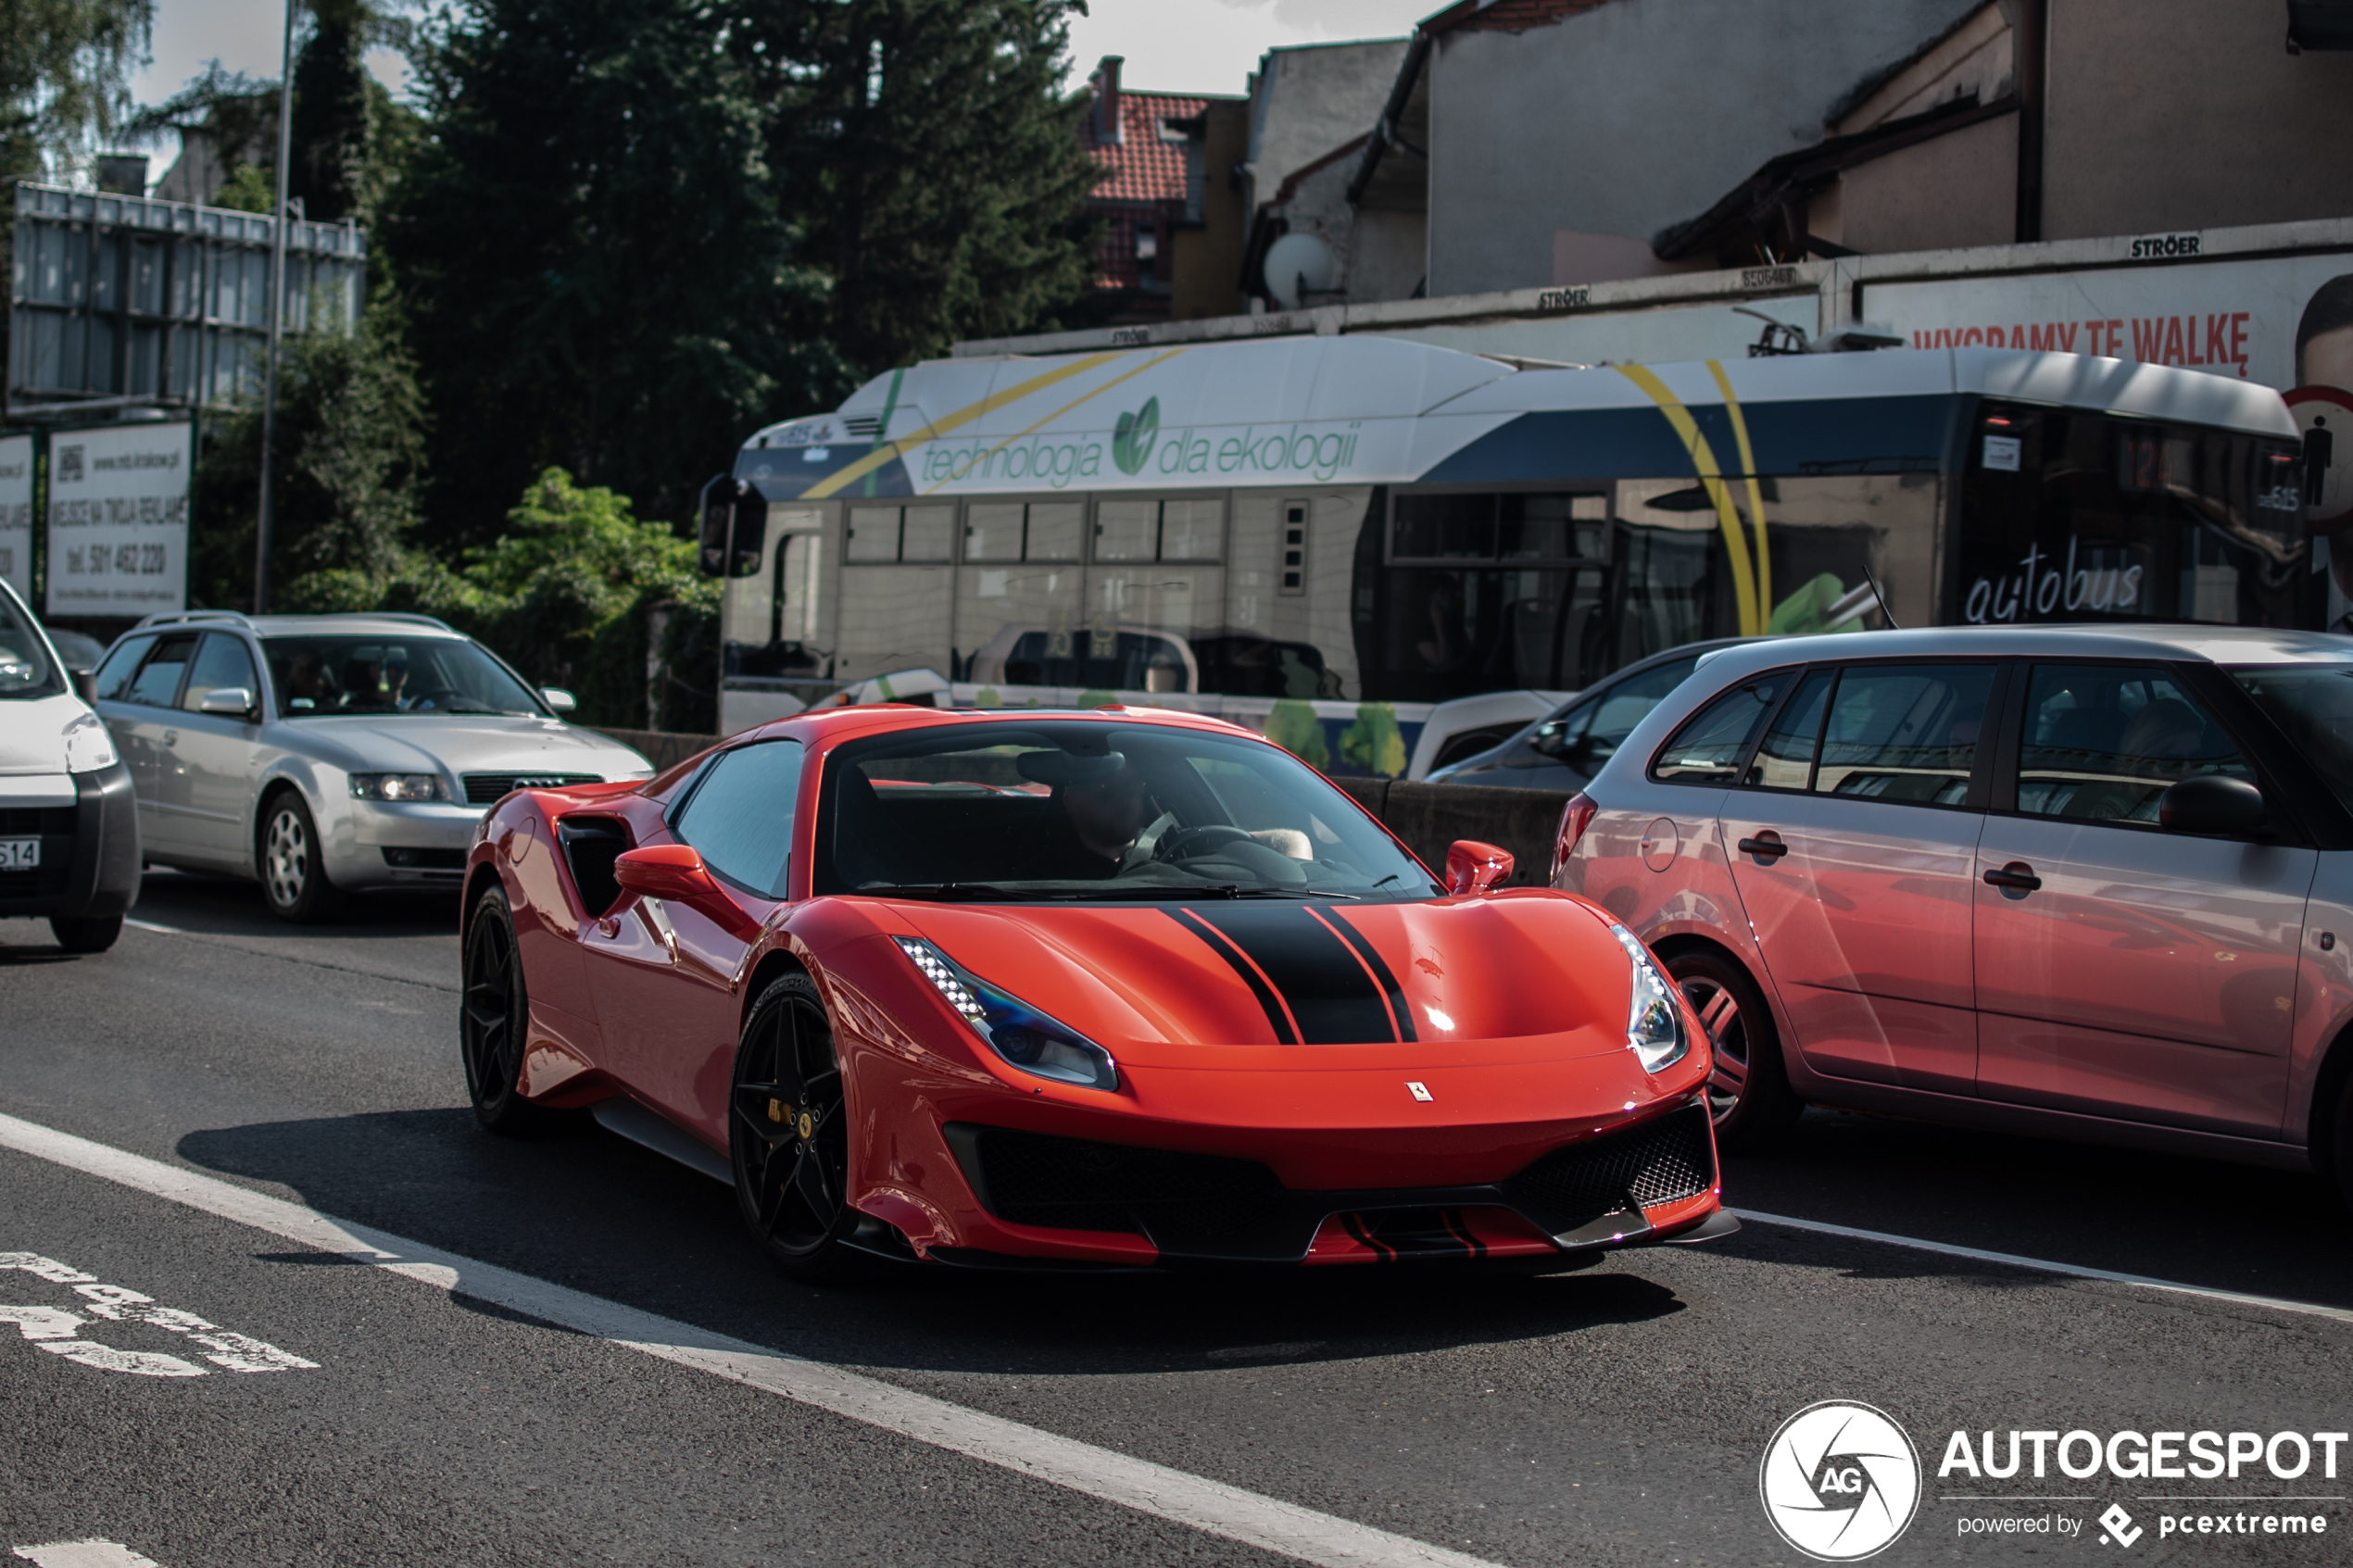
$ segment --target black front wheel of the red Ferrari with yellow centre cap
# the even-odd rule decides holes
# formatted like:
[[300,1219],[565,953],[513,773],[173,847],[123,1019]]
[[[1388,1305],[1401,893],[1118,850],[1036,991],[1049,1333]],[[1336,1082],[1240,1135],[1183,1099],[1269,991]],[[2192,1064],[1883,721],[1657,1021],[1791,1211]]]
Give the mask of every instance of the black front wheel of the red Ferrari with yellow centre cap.
[[826,1004],[805,973],[760,992],[744,1023],[727,1152],[736,1206],[776,1267],[809,1284],[868,1274],[864,1255],[845,1244],[859,1213],[849,1206],[842,1067]]

